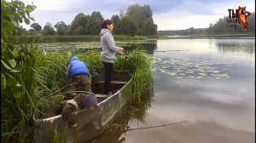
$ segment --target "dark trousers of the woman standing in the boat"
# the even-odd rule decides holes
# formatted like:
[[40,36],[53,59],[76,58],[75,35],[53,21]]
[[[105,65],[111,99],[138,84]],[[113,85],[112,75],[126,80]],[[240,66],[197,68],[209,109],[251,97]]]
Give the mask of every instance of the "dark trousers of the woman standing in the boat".
[[113,63],[108,63],[102,61],[104,65],[104,72],[105,72],[105,81],[104,81],[104,92],[105,94],[108,94],[108,92],[111,91],[111,78],[112,78],[112,72],[113,72]]

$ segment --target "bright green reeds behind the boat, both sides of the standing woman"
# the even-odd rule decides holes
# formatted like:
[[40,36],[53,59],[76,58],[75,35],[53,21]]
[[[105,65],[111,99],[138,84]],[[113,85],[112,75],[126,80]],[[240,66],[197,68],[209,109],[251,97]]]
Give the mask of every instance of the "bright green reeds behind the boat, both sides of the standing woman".
[[[42,94],[42,96],[46,96],[60,90],[65,85],[68,62],[73,55],[78,56],[89,66],[92,76],[102,74],[103,65],[100,54],[99,51],[39,54],[36,57],[38,93]],[[149,54],[145,54],[143,50],[134,50],[129,54],[129,57],[126,58],[122,56],[117,57],[114,63],[114,70],[129,70],[133,74],[133,89],[135,89],[135,96],[139,99],[143,89],[153,85],[153,73],[151,71],[152,57]]]

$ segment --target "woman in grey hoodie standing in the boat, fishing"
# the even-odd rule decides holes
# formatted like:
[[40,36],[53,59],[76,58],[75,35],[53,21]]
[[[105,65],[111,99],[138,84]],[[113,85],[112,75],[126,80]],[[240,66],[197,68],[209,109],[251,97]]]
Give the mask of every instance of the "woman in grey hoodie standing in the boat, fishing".
[[124,54],[124,49],[115,46],[113,39],[113,20],[104,20],[102,22],[101,43],[102,43],[102,63],[104,65],[105,81],[104,90],[105,93],[111,95],[111,77],[113,72],[113,62],[115,60],[115,54]]

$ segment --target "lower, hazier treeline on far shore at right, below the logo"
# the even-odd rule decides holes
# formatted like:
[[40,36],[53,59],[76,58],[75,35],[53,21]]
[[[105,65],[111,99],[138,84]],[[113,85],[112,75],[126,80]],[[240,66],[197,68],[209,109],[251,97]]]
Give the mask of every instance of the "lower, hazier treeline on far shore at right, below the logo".
[[242,24],[237,23],[235,27],[230,27],[227,23],[228,16],[218,19],[217,23],[208,28],[190,27],[186,30],[158,31],[160,35],[199,35],[199,34],[251,34],[255,33],[255,13],[247,17],[249,29],[245,29]]

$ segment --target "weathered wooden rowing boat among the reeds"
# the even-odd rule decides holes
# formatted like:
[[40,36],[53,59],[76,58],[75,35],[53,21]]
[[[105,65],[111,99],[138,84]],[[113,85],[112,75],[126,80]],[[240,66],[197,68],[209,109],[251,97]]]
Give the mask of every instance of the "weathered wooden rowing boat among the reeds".
[[[40,116],[35,113],[34,119],[34,142],[53,142],[56,137],[61,138],[61,142],[84,142],[102,134],[104,127],[118,116],[119,110],[131,97],[132,76],[128,72],[113,73],[111,82],[113,89],[117,89],[113,95],[102,94],[103,77],[95,76],[91,78],[91,89],[96,94],[98,104],[93,112],[74,112],[78,126],[76,128],[67,127],[67,123],[61,115],[50,117],[53,109],[48,109],[48,116]],[[81,136],[83,134],[83,136]]]

